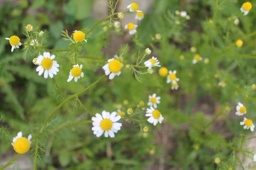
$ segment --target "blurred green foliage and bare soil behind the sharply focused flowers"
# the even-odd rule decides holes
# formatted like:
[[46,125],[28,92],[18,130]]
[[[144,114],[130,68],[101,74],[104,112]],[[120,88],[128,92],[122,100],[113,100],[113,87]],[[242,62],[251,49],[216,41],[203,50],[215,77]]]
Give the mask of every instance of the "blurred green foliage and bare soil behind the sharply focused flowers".
[[[49,31],[45,32],[45,48],[71,49],[69,42],[62,39],[61,31],[67,29],[70,35],[74,30],[92,28],[98,21],[91,15],[96,1],[18,0],[0,3],[2,157],[14,152],[12,137],[22,131],[26,136],[30,133],[33,136],[27,154],[31,162],[35,137],[39,137],[38,169],[241,169],[241,162],[251,160],[255,148],[245,144],[250,140],[244,140],[245,132],[248,137],[251,133],[239,125],[243,118],[235,116],[235,107],[237,102],[242,102],[247,107],[246,117],[256,121],[256,90],[252,88],[256,82],[256,3],[252,2],[252,10],[247,16],[242,16],[239,10],[244,3],[242,0],[152,1],[145,18],[138,24],[138,33],[128,40],[123,28],[117,33],[108,24],[98,26],[86,37],[88,43],[79,47],[80,55],[101,60],[78,58],[85,73],[78,83],[66,81],[74,63],[70,59],[72,52],[52,52],[60,64],[60,72],[54,77],[56,84],[52,79],[37,75],[32,63],[36,57],[33,51],[26,53],[25,57],[25,51],[22,54],[21,49],[11,53],[10,44],[4,38],[17,35],[24,42],[26,37],[22,32],[27,24]],[[124,2],[128,5],[130,1]],[[137,2],[149,3],[147,0]],[[117,11],[123,10],[117,6]],[[175,10],[187,11],[190,20],[175,15]],[[238,16],[240,23],[235,25],[234,19]],[[108,31],[104,31],[103,26],[108,26]],[[154,38],[156,33],[161,34],[160,40]],[[242,48],[236,47],[237,39],[244,41]],[[117,40],[118,44],[115,43]],[[42,122],[63,99],[104,74],[101,67],[113,54],[118,54],[121,43],[129,44],[124,65],[135,63],[138,52],[149,47],[151,55],[159,57],[162,66],[177,70],[180,88],[172,91],[166,78],[158,75],[158,68],[153,74],[139,75],[142,78],[140,83],[124,67],[119,77],[112,81],[104,78],[80,96],[89,112],[84,111],[76,99],[70,100],[52,117],[45,132],[38,136]],[[111,48],[114,45],[115,48]],[[191,47],[196,47],[197,52],[191,52]],[[194,65],[195,54],[203,60]],[[220,81],[225,81],[226,87],[218,86]],[[95,137],[91,124],[50,133],[66,123],[90,120],[90,113],[116,111],[116,106],[120,105],[123,111],[129,107],[135,110],[140,101],[146,104],[148,95],[153,93],[161,96],[158,108],[164,122],[156,127],[142,122],[142,127],[149,127],[148,133],[141,133],[140,124],[125,118],[115,138]],[[124,104],[124,100],[128,100],[128,104]],[[142,108],[137,111],[141,115],[145,113]],[[214,164],[216,157],[221,159],[218,165]],[[255,168],[251,163],[245,166]]]

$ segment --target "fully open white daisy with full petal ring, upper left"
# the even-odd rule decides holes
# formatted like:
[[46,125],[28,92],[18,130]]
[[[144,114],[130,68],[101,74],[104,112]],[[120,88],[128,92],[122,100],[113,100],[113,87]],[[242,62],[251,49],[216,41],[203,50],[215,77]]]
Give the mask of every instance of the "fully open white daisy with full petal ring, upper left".
[[53,60],[54,58],[55,55],[51,55],[49,52],[44,52],[44,55],[39,55],[37,57],[36,64],[39,66],[36,68],[36,71],[39,76],[41,76],[43,72],[44,78],[48,78],[48,75],[50,78],[53,78],[53,74],[57,75],[57,72],[59,72],[58,67],[60,67],[60,65],[57,61]]

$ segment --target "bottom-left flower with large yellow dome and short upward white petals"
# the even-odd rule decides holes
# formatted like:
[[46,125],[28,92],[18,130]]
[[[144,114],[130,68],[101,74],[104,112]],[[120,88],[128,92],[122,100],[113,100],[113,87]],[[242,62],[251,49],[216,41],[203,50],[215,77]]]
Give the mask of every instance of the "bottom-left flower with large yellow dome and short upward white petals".
[[19,132],[17,136],[12,139],[14,151],[19,154],[27,153],[30,148],[31,138],[31,135],[28,135],[28,138],[22,137],[22,132]]

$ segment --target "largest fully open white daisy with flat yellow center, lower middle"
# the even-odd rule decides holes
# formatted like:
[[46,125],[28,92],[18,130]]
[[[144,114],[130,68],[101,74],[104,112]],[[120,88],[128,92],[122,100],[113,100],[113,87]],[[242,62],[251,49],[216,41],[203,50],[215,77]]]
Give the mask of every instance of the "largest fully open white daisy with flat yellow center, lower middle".
[[92,131],[97,137],[100,137],[104,132],[105,137],[108,137],[108,135],[109,137],[115,137],[114,133],[121,129],[122,123],[117,122],[121,119],[121,116],[116,116],[116,112],[110,114],[104,110],[102,116],[98,113],[95,116],[92,117]]

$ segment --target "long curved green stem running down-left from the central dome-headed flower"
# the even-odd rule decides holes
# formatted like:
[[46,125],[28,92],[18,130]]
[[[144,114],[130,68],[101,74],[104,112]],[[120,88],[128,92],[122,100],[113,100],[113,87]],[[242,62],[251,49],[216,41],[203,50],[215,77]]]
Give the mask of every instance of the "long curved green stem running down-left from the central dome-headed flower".
[[50,113],[50,115],[47,117],[47,119],[44,121],[44,123],[43,123],[43,125],[42,125],[42,128],[41,128],[41,130],[40,130],[40,133],[44,130],[44,128],[45,128],[45,126],[46,126],[46,123],[51,119],[51,117],[54,115],[54,113],[55,113],[60,107],[62,107],[68,100],[73,99],[73,98],[75,98],[76,96],[79,96],[80,94],[86,92],[89,88],[91,88],[91,87],[93,87],[94,85],[96,85],[97,83],[99,83],[100,80],[101,80],[102,78],[104,78],[105,76],[106,76],[106,75],[104,74],[101,78],[99,78],[97,81],[95,81],[94,83],[92,83],[91,85],[89,85],[88,87],[86,87],[86,88],[85,88],[84,90],[82,90],[81,92],[77,92],[77,93],[75,93],[75,94],[73,94],[73,95],[70,95],[68,98],[66,98],[65,100],[63,100],[63,101],[59,104],[59,106],[57,106],[57,107]]

